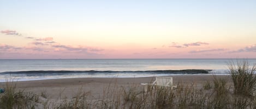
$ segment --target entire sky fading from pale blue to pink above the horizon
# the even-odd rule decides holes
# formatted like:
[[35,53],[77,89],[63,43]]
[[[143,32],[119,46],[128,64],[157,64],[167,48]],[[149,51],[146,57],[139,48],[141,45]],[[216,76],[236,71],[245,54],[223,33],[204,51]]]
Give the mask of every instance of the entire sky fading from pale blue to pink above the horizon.
[[255,5],[0,0],[0,59],[256,58]]

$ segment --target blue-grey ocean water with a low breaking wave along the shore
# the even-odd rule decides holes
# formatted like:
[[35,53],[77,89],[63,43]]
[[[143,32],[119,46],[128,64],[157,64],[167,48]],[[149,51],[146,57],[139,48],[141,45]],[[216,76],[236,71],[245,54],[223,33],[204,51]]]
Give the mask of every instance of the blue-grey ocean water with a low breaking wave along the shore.
[[[0,60],[0,81],[58,78],[124,78],[183,74],[228,74],[237,59],[42,59]],[[251,65],[256,59],[248,59]],[[204,70],[186,70],[204,69]]]

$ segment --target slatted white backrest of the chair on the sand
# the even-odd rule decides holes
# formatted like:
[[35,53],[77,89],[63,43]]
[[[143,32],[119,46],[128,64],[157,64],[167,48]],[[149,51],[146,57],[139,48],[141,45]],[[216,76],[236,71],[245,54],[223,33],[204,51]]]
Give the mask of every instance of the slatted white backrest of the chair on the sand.
[[172,86],[172,77],[156,77],[157,86]]

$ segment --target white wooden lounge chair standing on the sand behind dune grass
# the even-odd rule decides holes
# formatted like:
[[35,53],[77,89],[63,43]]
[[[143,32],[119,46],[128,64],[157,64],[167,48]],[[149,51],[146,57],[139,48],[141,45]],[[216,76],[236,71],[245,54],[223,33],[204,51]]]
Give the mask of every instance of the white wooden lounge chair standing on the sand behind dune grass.
[[173,85],[172,77],[167,77],[167,76],[158,76],[158,77],[156,77],[156,80],[152,84],[145,83],[145,84],[141,84],[141,85],[145,85],[145,92],[147,92],[148,86],[152,86],[152,88],[154,86],[171,87],[171,89],[177,87],[177,86]]

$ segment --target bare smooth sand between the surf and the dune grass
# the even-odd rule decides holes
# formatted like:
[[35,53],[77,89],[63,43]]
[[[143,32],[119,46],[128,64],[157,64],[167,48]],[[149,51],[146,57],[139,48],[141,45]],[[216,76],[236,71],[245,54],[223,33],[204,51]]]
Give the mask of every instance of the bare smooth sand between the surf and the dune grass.
[[[229,79],[227,75],[216,75],[217,78]],[[206,81],[212,81],[213,75],[174,75],[173,82],[177,84],[194,84],[202,87]],[[50,99],[73,98],[81,89],[82,92],[88,92],[92,99],[97,99],[108,88],[128,88],[131,86],[143,88],[141,83],[154,81],[155,77],[146,78],[73,78],[73,79],[51,79],[51,80],[34,80],[34,81],[17,81],[17,89],[26,92],[40,94],[45,91]],[[0,83],[1,86],[4,82]]]

